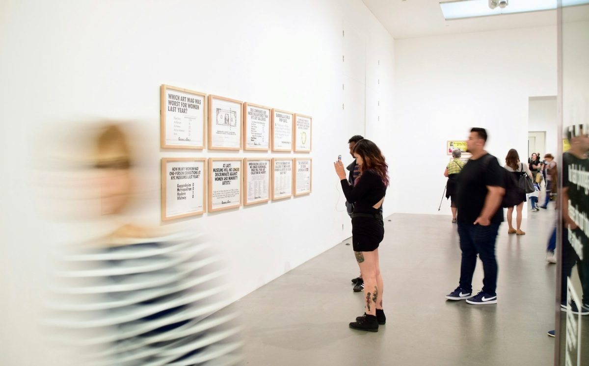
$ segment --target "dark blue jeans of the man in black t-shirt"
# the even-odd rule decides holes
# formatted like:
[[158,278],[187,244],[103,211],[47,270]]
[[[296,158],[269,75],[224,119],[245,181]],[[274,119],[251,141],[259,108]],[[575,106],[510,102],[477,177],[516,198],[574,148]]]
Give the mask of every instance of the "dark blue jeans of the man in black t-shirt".
[[460,266],[460,287],[472,292],[472,275],[477,266],[477,254],[482,261],[485,277],[482,280],[482,291],[495,296],[497,290],[497,258],[495,258],[495,240],[499,224],[489,226],[464,224],[458,222],[458,235],[462,262]]

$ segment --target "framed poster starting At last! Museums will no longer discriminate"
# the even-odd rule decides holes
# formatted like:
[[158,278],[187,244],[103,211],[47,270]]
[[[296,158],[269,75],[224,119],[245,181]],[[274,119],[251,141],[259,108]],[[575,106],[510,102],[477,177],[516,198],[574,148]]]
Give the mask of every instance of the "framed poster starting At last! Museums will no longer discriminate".
[[240,158],[209,158],[209,212],[241,206]]

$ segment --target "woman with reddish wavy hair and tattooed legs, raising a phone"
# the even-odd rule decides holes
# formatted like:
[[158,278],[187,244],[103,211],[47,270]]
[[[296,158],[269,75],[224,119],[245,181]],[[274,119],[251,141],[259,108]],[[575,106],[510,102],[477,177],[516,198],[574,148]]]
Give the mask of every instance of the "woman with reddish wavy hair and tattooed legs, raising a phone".
[[389,185],[388,165],[376,144],[367,139],[358,141],[353,153],[360,165],[360,175],[353,186],[346,179],[342,161],[333,164],[346,199],[354,202],[352,244],[366,294],[364,315],[349,325],[356,330],[377,332],[379,324],[386,322],[382,308],[383,280],[380,275],[378,247],[385,235],[380,208]]

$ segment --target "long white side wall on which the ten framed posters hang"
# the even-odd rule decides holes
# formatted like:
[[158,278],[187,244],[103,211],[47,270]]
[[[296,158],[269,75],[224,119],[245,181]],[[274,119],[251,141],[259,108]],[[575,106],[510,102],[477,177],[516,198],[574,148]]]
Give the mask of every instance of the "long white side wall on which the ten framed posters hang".
[[160,226],[160,158],[307,156],[160,149],[161,84],[311,115],[312,194],[164,225],[207,235],[226,258],[237,299],[350,237],[332,163],[338,154],[349,163],[354,134],[373,135],[392,155],[392,75],[393,39],[360,0],[0,3],[9,131],[0,149],[2,171],[13,177],[0,179],[0,364],[48,364],[30,352],[48,248],[104,234],[84,220],[51,220],[51,197],[38,194],[44,151],[35,141],[67,137],[64,124],[133,121],[145,152],[141,224]]

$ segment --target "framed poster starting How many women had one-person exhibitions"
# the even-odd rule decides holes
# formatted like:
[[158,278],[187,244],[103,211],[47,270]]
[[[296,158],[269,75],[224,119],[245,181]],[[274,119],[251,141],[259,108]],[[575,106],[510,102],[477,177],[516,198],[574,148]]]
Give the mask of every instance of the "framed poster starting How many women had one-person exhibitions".
[[[170,183],[174,182],[172,180],[172,177],[174,175],[171,175],[170,173],[172,172],[171,169],[168,169],[168,164],[169,163],[173,163],[173,162],[198,162],[199,164],[197,165],[201,165],[201,178],[200,180],[202,181],[202,208],[198,209],[196,211],[191,211],[191,212],[186,212],[184,214],[168,214],[168,203],[170,203],[170,201],[168,201],[168,178],[170,178]],[[180,164],[179,164],[180,165]],[[184,164],[181,164],[184,165]],[[181,172],[177,172],[177,175],[180,175]],[[184,178],[184,179],[180,179],[177,180],[176,182],[178,184],[190,184],[190,178]],[[195,178],[191,178],[191,179],[195,179]],[[175,180],[175,179],[174,179]],[[193,187],[194,187],[194,182],[193,182]],[[184,187],[186,188],[186,187]],[[184,189],[183,191],[180,191],[178,188],[176,187],[176,189],[171,189],[171,191],[176,192],[177,197],[179,198],[180,195],[182,197],[186,197],[186,200],[190,200],[189,196],[186,196],[186,191],[189,191],[188,189]],[[198,189],[198,188],[197,188]],[[182,218],[182,217],[190,217],[190,216],[197,216],[197,215],[202,215],[204,214],[204,212],[206,212],[206,207],[207,207],[207,159],[206,158],[162,158],[161,159],[161,220],[162,221],[168,221],[168,220],[173,220],[173,219],[177,219],[177,218]],[[193,192],[193,198],[195,196],[195,194],[197,194],[197,192],[194,190],[192,190]],[[190,192],[188,192],[190,193]]]

